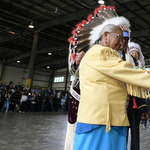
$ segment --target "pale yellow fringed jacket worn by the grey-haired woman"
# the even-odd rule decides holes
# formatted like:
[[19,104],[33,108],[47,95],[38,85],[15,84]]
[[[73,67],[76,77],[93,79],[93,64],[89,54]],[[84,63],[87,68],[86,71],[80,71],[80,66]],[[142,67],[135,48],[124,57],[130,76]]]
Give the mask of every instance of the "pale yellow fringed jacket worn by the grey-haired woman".
[[132,67],[117,51],[93,46],[79,67],[81,100],[77,121],[88,124],[129,126],[127,95],[146,98],[150,74],[143,68]]

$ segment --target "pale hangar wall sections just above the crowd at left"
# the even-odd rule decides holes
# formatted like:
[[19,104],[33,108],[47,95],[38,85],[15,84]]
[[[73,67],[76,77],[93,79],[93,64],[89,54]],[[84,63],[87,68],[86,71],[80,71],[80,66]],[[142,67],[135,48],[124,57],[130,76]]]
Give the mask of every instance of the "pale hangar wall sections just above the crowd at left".
[[[0,71],[1,68],[2,66],[0,65]],[[64,82],[54,83],[53,81],[52,89],[62,91],[65,90],[66,72],[67,68],[54,71],[54,77],[64,76]],[[8,85],[10,81],[13,81],[15,84],[20,82],[21,85],[25,86],[27,76],[28,76],[28,69],[26,68],[5,66],[3,69],[2,82],[6,82],[6,85]],[[35,71],[33,77],[33,85],[38,85],[40,87],[48,87],[50,80],[49,77],[50,77],[49,72]],[[70,83],[71,83],[70,74],[68,74],[66,91],[69,91]]]

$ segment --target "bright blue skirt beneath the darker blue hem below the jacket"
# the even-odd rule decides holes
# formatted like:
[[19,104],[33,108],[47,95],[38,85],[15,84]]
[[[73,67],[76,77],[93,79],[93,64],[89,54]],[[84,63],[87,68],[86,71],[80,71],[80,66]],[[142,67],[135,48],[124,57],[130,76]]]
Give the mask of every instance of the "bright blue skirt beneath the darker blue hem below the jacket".
[[75,134],[73,150],[127,150],[126,136],[115,129],[106,133],[106,126],[82,134]]

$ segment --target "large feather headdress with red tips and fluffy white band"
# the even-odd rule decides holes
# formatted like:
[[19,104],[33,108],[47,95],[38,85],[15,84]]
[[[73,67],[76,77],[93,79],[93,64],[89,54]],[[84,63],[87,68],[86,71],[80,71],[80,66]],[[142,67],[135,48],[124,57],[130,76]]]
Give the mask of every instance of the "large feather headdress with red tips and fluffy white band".
[[114,6],[101,5],[94,10],[93,14],[89,14],[87,20],[83,20],[76,25],[76,28],[72,31],[73,36],[68,39],[70,42],[68,62],[71,74],[74,74],[71,71],[71,66],[75,61],[71,54],[80,51],[86,52],[93,46],[100,36],[100,31],[107,24],[120,25],[121,29],[130,32],[129,21],[125,17],[119,17]]

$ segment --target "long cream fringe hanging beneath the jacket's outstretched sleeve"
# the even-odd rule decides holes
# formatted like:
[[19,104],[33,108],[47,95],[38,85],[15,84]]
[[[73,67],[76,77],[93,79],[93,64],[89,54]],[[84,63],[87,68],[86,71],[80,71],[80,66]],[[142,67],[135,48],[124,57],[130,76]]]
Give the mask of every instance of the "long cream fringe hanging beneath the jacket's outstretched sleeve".
[[149,93],[148,88],[139,87],[139,86],[131,85],[128,83],[126,83],[126,86],[127,86],[127,92],[129,95],[147,99],[147,93]]

